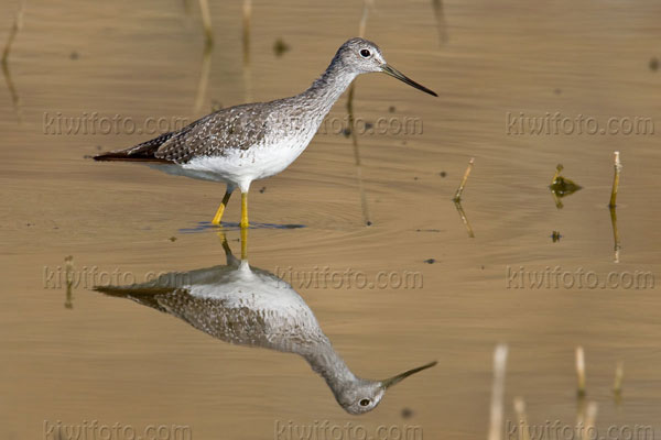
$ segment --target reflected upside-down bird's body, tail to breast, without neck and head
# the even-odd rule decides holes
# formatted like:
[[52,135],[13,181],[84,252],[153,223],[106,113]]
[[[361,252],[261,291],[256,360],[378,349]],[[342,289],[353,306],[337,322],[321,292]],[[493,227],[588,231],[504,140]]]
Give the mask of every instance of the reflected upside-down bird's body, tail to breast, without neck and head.
[[314,314],[291,285],[247,265],[172,273],[148,284],[96,289],[172,315],[234,344],[302,354],[326,342]]

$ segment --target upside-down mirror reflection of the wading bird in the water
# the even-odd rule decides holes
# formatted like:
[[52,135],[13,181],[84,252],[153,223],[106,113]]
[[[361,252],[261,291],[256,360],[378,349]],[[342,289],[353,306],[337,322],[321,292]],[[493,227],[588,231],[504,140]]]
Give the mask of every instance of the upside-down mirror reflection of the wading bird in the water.
[[172,315],[225,342],[299,354],[324,377],[337,403],[355,415],[375,409],[389,387],[436,364],[432,362],[383,381],[356,376],[289,283],[250,267],[247,260],[236,258],[227,241],[223,246],[227,255],[225,266],[95,289]]

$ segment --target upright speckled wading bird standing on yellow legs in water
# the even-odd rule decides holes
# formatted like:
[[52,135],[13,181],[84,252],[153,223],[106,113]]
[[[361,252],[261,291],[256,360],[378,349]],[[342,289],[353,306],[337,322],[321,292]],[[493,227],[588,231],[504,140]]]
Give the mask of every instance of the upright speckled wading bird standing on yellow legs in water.
[[339,47],[326,72],[300,95],[221,109],[182,130],[99,154],[95,160],[149,162],[170,174],[226,183],[214,224],[220,223],[229,197],[238,187],[240,226],[248,227],[252,180],[273,176],[294,162],[354,78],[378,72],[437,96],[387,64],[375,43],[351,38]]

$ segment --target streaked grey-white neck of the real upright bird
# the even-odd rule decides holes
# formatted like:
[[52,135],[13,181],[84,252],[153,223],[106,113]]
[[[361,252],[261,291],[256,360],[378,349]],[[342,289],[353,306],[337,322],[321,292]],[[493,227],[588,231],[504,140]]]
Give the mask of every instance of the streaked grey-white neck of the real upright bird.
[[334,58],[326,72],[301,96],[321,113],[323,119],[356,76],[358,76],[356,72]]

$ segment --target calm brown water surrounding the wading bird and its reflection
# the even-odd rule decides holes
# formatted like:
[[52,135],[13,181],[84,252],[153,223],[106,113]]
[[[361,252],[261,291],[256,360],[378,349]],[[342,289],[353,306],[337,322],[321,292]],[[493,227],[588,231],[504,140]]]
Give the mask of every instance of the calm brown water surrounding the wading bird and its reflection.
[[[7,12],[17,8],[15,1],[2,4],[2,42],[11,25]],[[444,2],[442,20],[431,1],[376,2],[367,37],[440,98],[386,76],[364,76],[356,82],[356,116],[419,118],[423,133],[358,136],[360,169],[349,139],[318,135],[289,169],[251,191],[251,220],[305,228],[259,228],[249,237],[250,264],[274,273],[327,266],[369,278],[407,271],[423,276],[422,288],[409,289],[294,283],[356,374],[387,377],[438,361],[389,392],[375,411],[343,411],[299,356],[220,342],[83,284],[65,307],[66,289],[47,274],[64,267],[67,255],[78,272],[98,266],[138,279],[223,264],[212,230],[185,230],[210,220],[224,188],[94,163],[84,156],[98,147],[149,136],[44,134],[44,112],[46,120],[95,111],[139,123],[192,120],[213,101],[293,95],[357,33],[362,12],[356,1],[254,1],[246,66],[240,2],[210,8],[216,44],[198,111],[204,45],[197,2],[36,0],[25,8],[9,64],[15,107],[9,88],[0,87],[2,438],[43,438],[44,422],[58,420],[137,430],[185,425],[195,439],[294,438],[278,437],[277,428],[324,420],[360,425],[373,438],[379,426],[419,426],[431,439],[485,438],[498,342],[510,349],[506,419],[514,420],[511,402],[522,396],[531,424],[575,424],[574,349],[583,345],[597,425],[652,426],[659,433],[659,288],[512,288],[508,282],[508,267],[584,270],[600,282],[610,272],[659,276],[658,134],[516,135],[506,123],[507,112],[559,111],[602,124],[647,117],[659,125],[661,73],[649,67],[661,57],[661,4],[654,1],[453,1]],[[280,57],[272,48],[278,38],[291,46]],[[330,117],[345,118],[345,105],[346,97]],[[624,162],[619,263],[606,208],[616,150]],[[476,162],[463,208],[475,238],[449,200],[469,157]],[[563,209],[546,188],[557,163],[583,186],[563,199]],[[226,219],[238,218],[232,200]],[[239,232],[228,238],[238,252]],[[610,391],[618,360],[625,361],[619,404]],[[410,418],[402,417],[404,408]]]

